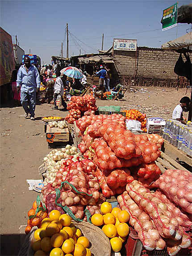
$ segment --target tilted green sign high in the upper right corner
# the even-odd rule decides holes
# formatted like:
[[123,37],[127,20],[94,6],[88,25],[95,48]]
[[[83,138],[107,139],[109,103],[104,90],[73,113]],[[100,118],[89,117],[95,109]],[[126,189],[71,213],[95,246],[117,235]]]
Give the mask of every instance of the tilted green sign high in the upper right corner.
[[177,3],[163,10],[162,31],[177,25]]

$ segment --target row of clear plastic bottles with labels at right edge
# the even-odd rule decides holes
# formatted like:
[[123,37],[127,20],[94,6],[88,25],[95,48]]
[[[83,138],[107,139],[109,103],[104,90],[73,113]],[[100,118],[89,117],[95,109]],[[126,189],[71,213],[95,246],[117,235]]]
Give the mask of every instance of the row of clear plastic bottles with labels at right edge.
[[167,120],[163,138],[192,156],[192,126],[186,126],[177,120]]

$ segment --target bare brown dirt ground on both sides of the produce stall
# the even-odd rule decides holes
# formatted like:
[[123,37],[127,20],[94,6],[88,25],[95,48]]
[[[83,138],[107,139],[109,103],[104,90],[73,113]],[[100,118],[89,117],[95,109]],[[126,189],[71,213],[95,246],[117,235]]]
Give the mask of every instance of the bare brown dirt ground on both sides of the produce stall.
[[[171,118],[181,97],[190,97],[186,89],[142,87],[126,92],[124,101],[101,101],[97,106],[118,105],[138,109],[147,117]],[[142,89],[142,90],[141,90]],[[42,116],[65,116],[68,112],[52,110],[52,105],[36,106],[36,120],[24,118],[22,107],[7,105],[0,109],[0,255],[17,255],[19,227],[26,225],[27,212],[38,193],[29,191],[27,179],[41,179],[38,167],[50,152],[44,134]],[[185,115],[186,116],[186,115]],[[187,116],[186,116],[187,117]],[[11,245],[11,246],[10,246]]]

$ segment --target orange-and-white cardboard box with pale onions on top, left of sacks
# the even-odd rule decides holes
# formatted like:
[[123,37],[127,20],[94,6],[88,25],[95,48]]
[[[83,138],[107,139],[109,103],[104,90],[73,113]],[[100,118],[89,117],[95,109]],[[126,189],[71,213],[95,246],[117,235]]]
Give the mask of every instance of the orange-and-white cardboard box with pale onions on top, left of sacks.
[[46,140],[48,143],[54,142],[68,142],[69,141],[69,129],[60,129],[58,127],[46,127]]

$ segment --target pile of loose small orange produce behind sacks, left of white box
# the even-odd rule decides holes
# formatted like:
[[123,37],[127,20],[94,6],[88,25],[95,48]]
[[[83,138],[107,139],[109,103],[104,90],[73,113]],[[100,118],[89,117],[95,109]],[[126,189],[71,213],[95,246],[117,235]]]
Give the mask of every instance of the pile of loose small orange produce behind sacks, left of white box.
[[123,110],[126,113],[126,119],[137,120],[142,123],[142,130],[146,132],[146,114],[139,112],[137,109]]

